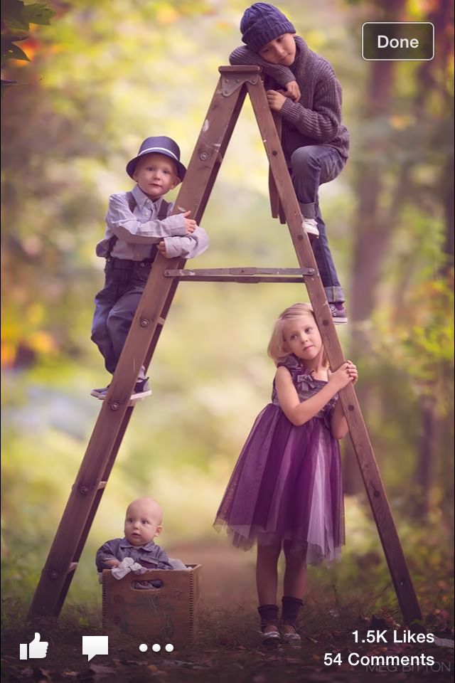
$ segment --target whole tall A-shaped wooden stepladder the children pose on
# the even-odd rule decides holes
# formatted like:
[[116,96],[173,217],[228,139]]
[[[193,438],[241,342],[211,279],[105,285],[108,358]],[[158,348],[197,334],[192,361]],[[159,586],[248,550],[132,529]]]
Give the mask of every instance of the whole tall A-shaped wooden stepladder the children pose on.
[[[248,93],[269,159],[272,214],[287,223],[300,268],[183,270],[183,259],[169,260],[157,255],[45,562],[31,603],[31,616],[57,616],[60,613],[132,415],[134,405],[129,398],[139,368],[141,365],[147,368],[150,364],[179,281],[304,282],[331,368],[336,369],[343,363],[343,351],[313,251],[302,231],[299,203],[274,121],[277,117],[272,117],[267,104],[261,69],[257,66],[223,66],[219,70],[220,80],[176,206],[190,210],[192,218],[200,222]],[[340,392],[340,400],[404,621],[419,628],[422,620],[419,604],[352,385]]]

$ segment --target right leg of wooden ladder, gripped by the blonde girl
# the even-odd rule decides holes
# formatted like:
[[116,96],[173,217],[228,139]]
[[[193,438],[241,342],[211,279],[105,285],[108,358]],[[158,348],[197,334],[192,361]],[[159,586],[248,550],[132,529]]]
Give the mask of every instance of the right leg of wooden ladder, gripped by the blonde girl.
[[[301,228],[299,203],[291,177],[289,176],[282,146],[277,136],[277,129],[269,113],[264,88],[248,84],[247,90],[252,100],[253,110],[255,111],[257,124],[262,135],[267,157],[269,158],[269,164],[272,168],[274,181],[277,185],[297,258],[302,267],[316,268],[316,261],[309,238]],[[336,369],[343,363],[344,356],[317,269],[314,277],[305,278],[305,284],[314,308],[316,322],[321,332],[328,361],[331,368]],[[410,572],[402,551],[395,522],[392,518],[390,504],[387,501],[384,485],[382,484],[378,463],[376,462],[363,416],[360,412],[360,406],[351,384],[340,392],[340,400],[402,614],[407,624],[420,622],[422,620],[422,613],[420,612],[419,603],[412,586]]]

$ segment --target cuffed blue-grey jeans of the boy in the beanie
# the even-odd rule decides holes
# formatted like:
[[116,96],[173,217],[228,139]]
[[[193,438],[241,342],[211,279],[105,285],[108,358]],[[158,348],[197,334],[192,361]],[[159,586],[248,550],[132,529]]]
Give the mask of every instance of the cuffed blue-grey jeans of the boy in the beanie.
[[301,213],[305,218],[315,218],[318,226],[319,238],[311,240],[311,247],[329,303],[343,302],[344,295],[328,246],[318,191],[320,185],[336,178],[345,164],[346,159],[328,144],[299,147],[291,155],[291,176]]

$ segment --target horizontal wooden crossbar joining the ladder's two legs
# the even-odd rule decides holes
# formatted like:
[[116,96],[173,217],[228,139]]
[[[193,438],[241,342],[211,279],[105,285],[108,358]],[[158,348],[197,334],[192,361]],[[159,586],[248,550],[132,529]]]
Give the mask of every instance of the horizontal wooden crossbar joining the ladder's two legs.
[[201,268],[165,270],[165,277],[193,282],[303,282],[313,268]]

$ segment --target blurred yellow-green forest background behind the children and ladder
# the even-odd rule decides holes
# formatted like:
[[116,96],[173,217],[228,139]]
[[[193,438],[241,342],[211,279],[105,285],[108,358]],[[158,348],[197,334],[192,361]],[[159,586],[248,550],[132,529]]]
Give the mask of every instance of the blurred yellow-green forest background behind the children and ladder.
[[[240,43],[245,0],[49,0],[9,60],[2,117],[3,507],[8,609],[28,603],[100,410],[107,383],[90,342],[102,286],[95,243],[107,197],[142,139],[168,134],[188,162],[218,80]],[[359,367],[358,394],[422,609],[453,605],[453,24],[444,0],[286,0],[279,4],[343,85],[351,157],[321,189],[331,248],[348,293],[339,329]],[[428,62],[365,62],[363,21],[432,21]],[[249,102],[203,217],[198,268],[297,266],[273,221],[267,159]],[[176,196],[176,192],[173,193]],[[122,534],[127,503],[164,507],[164,548],[221,553],[212,529],[252,422],[269,400],[266,348],[299,285],[182,283],[153,364],[153,395],[134,411],[68,604],[97,604],[102,542]],[[343,443],[346,553],[317,570],[341,591],[393,600],[349,440]],[[183,552],[181,550],[181,552]],[[253,554],[238,551],[252,571]],[[318,573],[319,572],[319,573]],[[235,572],[231,577],[235,586]],[[385,597],[386,596],[386,597]],[[388,596],[388,597],[387,597]],[[374,596],[373,596],[374,597]],[[8,606],[9,605],[9,606]]]

